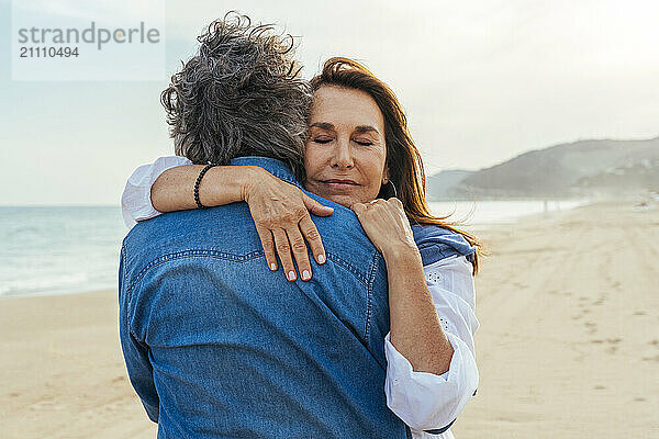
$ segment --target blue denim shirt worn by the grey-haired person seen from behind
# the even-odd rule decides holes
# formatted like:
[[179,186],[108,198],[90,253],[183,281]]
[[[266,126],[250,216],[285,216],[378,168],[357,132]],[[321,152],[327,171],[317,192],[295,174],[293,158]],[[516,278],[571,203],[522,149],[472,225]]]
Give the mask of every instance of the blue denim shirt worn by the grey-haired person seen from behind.
[[[281,161],[241,157],[300,187]],[[158,438],[405,438],[387,407],[387,270],[356,215],[314,216],[327,262],[270,271],[246,203],[137,224],[120,261],[120,336]]]

